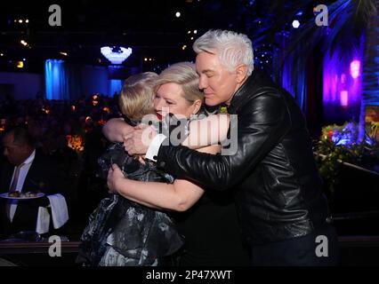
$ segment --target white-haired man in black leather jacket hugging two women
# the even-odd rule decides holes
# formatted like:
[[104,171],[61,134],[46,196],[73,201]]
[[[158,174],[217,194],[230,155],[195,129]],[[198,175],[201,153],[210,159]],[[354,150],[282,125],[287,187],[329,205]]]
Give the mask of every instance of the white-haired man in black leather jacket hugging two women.
[[337,264],[335,228],[305,119],[293,97],[254,70],[246,35],[210,30],[193,49],[206,105],[226,104],[229,114],[238,114],[237,153],[198,153],[170,145],[163,134],[148,149],[141,143],[143,130],[126,136],[126,150],[147,153],[163,170],[204,188],[234,189],[252,264]]

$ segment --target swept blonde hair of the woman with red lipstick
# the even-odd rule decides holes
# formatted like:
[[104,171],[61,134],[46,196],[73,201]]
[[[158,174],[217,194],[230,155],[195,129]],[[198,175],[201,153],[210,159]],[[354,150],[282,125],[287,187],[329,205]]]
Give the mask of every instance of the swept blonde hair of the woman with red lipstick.
[[197,99],[204,101],[204,93],[198,89],[198,74],[193,63],[179,62],[165,68],[157,78],[155,92],[165,83],[181,85],[181,96],[191,104]]

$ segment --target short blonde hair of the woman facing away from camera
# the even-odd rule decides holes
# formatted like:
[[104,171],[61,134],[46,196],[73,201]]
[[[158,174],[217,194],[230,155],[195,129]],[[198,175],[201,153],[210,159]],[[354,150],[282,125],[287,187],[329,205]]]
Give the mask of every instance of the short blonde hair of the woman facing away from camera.
[[144,72],[124,81],[119,99],[121,112],[129,119],[140,121],[146,114],[154,114],[154,86],[157,74]]

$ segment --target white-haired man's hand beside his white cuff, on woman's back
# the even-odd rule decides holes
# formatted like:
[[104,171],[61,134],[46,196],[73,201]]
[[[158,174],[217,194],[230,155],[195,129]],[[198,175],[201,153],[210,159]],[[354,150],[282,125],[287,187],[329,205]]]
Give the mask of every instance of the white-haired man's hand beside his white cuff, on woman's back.
[[134,130],[124,137],[124,146],[128,154],[146,154],[153,138],[157,136],[156,130],[146,124],[134,127]]

